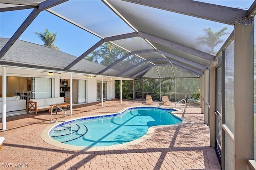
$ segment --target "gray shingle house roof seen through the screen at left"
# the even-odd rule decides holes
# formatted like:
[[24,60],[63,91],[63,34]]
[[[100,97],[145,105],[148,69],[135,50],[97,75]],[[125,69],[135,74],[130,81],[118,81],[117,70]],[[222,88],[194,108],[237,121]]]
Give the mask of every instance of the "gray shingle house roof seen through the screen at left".
[[[1,49],[8,40],[8,38],[0,38]],[[4,57],[2,57],[1,61],[33,65],[33,67],[45,66],[64,69],[76,58],[76,56],[44,45],[17,40]],[[106,66],[82,59],[82,61],[74,65],[71,70],[98,73],[104,68],[106,68]]]

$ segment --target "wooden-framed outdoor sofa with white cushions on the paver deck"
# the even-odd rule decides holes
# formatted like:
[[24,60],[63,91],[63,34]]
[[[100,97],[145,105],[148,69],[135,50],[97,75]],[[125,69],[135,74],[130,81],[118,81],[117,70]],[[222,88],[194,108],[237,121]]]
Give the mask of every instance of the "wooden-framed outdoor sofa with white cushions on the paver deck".
[[[70,103],[64,101],[64,97],[53,97],[46,99],[30,99],[27,105],[27,113],[29,111],[35,111],[37,115],[38,111],[46,111],[51,112],[52,106],[50,105],[58,105],[60,107],[69,106]],[[55,107],[56,108],[56,107]]]

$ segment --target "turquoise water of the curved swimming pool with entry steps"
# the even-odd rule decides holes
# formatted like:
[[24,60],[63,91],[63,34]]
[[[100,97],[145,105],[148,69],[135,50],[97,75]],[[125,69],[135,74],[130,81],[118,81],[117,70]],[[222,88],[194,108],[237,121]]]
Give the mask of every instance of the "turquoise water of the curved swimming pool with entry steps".
[[90,117],[57,125],[49,135],[54,140],[76,146],[110,146],[136,140],[149,127],[173,125],[181,119],[172,115],[174,109],[157,107],[129,108],[118,114]]

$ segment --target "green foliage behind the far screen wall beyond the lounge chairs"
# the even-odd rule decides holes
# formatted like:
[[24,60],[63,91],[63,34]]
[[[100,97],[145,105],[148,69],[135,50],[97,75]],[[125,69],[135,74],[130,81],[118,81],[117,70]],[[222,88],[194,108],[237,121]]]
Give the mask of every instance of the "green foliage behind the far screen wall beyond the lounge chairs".
[[[175,87],[176,84],[176,87]],[[132,99],[133,81],[122,81],[122,99]],[[189,98],[199,99],[200,97],[200,79],[199,78],[176,78],[175,79],[141,79],[135,81],[136,99],[142,99],[142,93],[144,93],[144,99],[146,95],[151,95],[155,101],[160,101],[160,89],[161,97],[166,95],[170,101],[174,101],[174,95],[176,100],[184,99],[185,95]],[[115,81],[115,97],[120,98],[120,81]]]

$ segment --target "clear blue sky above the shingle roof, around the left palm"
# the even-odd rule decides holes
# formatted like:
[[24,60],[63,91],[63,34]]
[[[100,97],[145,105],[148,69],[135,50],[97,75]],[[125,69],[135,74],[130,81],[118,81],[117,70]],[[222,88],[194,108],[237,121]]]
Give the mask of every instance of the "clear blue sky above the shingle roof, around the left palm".
[[[11,12],[1,12],[0,14],[0,36],[10,38],[18,29],[20,24],[26,19],[32,10],[19,10]],[[50,32],[57,33],[55,45],[61,51],[80,56],[89,47],[94,45],[100,38],[66,22],[49,12],[41,12],[35,20],[28,26],[24,33],[19,37],[20,40],[33,42],[43,45],[35,32],[44,32],[47,28]]]

